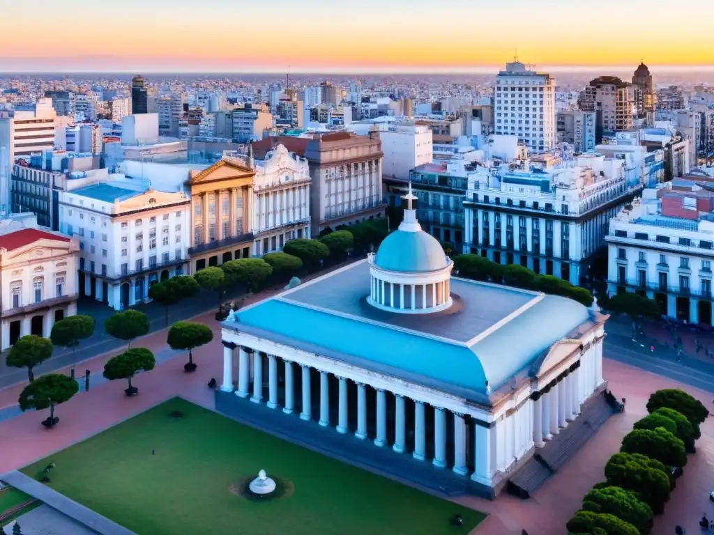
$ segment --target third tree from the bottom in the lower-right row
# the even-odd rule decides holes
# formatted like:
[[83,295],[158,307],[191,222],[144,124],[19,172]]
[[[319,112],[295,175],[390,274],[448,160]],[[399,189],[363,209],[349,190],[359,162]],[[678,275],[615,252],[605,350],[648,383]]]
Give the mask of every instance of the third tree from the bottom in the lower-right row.
[[672,486],[667,468],[642,454],[616,453],[605,464],[608,485],[636,492],[655,514],[661,514]]

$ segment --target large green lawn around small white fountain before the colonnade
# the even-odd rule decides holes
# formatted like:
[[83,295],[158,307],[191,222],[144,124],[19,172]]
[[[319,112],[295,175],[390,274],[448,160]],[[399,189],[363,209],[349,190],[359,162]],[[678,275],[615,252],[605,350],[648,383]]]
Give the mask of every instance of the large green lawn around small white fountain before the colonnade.
[[[181,420],[169,413],[179,410]],[[151,450],[156,449],[156,455]],[[139,535],[467,534],[484,515],[171,399],[22,470]],[[231,484],[266,469],[291,496],[250,501]],[[457,528],[453,514],[464,519]]]

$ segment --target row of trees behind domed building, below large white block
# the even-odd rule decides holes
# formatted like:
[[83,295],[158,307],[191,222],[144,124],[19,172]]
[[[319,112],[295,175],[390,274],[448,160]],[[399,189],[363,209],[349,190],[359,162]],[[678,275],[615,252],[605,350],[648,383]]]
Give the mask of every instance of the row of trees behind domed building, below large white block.
[[553,275],[537,275],[533,270],[522,265],[502,265],[488,260],[486,257],[473,254],[458,255],[454,257],[453,263],[454,269],[461,277],[562,295],[570,297],[586,307],[593,304],[593,294],[585,288],[573,286],[567,280]]

